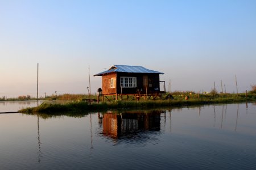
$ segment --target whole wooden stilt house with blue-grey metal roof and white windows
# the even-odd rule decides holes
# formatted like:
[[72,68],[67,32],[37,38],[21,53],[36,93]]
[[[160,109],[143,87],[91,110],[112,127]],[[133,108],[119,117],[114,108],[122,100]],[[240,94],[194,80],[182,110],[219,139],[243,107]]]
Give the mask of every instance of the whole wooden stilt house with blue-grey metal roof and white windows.
[[[94,76],[102,76],[102,99],[104,96],[118,97],[123,95],[133,96],[139,100],[144,96],[150,99],[152,96],[162,97],[166,93],[165,82],[160,81],[159,71],[149,70],[142,66],[113,65],[109,70],[95,74]],[[163,91],[160,91],[160,83],[163,84]],[[133,100],[132,99],[132,100]]]

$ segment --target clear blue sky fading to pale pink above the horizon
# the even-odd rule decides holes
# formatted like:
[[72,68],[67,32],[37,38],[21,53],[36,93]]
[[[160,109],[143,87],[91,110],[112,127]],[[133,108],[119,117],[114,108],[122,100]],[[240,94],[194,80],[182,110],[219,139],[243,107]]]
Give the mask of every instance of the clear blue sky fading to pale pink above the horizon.
[[113,65],[160,71],[171,91],[236,93],[237,76],[245,92],[256,1],[0,0],[0,97],[36,96],[38,63],[39,96],[88,94],[89,77],[93,94]]

